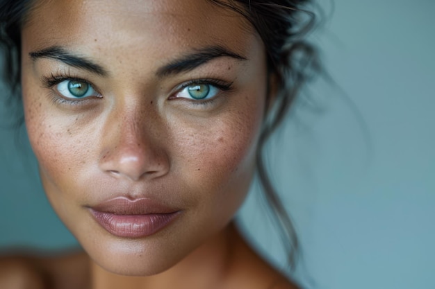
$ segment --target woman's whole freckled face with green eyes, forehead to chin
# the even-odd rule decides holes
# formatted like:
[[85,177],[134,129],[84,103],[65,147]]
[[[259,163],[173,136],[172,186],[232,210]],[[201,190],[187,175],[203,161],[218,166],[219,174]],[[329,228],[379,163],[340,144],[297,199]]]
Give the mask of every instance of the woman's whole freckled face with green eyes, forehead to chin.
[[54,209],[99,265],[161,272],[245,198],[265,110],[263,44],[209,1],[35,1],[26,126]]

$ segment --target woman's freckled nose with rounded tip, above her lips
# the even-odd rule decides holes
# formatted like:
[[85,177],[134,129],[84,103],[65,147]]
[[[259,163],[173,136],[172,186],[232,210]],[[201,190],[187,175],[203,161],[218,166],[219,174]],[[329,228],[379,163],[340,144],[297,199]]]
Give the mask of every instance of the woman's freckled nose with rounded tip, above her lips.
[[124,112],[106,123],[99,167],[120,179],[138,181],[161,177],[170,161],[156,117]]

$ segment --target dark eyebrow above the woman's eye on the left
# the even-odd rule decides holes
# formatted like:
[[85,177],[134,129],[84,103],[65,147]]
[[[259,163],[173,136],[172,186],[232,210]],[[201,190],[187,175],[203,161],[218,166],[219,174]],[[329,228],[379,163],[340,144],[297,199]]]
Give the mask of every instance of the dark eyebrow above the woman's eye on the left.
[[28,53],[33,60],[38,60],[38,58],[49,58],[58,60],[69,66],[76,67],[79,69],[84,69],[90,71],[91,73],[98,74],[99,76],[108,76],[108,71],[101,67],[101,65],[92,62],[86,58],[79,55],[74,55],[69,53],[66,49],[60,46],[51,46],[39,51],[33,51]]

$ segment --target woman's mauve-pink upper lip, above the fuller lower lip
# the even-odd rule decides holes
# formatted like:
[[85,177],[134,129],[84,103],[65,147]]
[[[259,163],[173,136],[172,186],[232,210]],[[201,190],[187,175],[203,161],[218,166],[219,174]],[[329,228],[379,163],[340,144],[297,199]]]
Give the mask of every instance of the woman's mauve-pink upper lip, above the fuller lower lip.
[[148,198],[130,199],[126,197],[112,198],[90,208],[95,211],[117,215],[147,215],[179,211],[179,209],[167,207],[160,202]]

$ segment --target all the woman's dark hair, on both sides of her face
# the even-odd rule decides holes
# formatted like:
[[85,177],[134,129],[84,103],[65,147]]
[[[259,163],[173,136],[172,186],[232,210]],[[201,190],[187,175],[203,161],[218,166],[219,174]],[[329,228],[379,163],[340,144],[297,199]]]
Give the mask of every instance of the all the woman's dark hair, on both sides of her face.
[[[290,216],[270,182],[265,169],[263,148],[282,123],[301,87],[320,70],[318,53],[306,41],[306,33],[313,28],[314,14],[306,7],[310,0],[208,0],[223,8],[243,15],[254,26],[263,40],[267,53],[268,72],[273,76],[276,94],[269,108],[267,118],[256,152],[258,177],[263,186],[265,199],[270,207],[272,219],[280,228],[283,244],[288,250],[290,268],[295,268],[295,254],[298,241]],[[21,50],[21,26],[30,0],[2,0],[0,3],[0,48],[5,53],[4,80],[9,84],[11,94],[18,97],[19,67]]]

